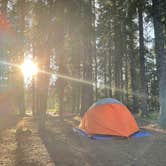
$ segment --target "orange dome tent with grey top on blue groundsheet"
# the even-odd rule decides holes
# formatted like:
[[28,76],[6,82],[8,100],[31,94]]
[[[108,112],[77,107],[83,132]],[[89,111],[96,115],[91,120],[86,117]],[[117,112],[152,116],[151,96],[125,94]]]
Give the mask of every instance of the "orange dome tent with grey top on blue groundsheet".
[[105,98],[94,103],[81,119],[79,129],[90,135],[122,137],[129,137],[139,131],[128,108],[112,98]]

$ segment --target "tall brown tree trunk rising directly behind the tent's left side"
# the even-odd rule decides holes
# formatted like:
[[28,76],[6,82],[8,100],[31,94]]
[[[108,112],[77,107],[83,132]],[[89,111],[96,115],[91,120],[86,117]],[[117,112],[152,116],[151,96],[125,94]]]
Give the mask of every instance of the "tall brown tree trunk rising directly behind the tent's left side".
[[[88,0],[85,2],[85,7],[88,11],[84,9],[84,20],[86,19],[86,35],[83,37],[83,47],[84,47],[84,62],[83,62],[83,78],[86,81],[92,82],[92,1]],[[90,84],[82,84],[82,99],[81,99],[81,115],[87,111],[87,109],[93,103],[93,86]]]

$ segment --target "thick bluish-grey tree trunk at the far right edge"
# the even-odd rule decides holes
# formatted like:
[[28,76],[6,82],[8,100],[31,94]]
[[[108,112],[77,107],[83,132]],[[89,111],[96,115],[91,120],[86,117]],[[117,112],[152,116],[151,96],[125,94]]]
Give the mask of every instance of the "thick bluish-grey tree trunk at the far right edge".
[[161,2],[153,0],[153,22],[155,32],[155,52],[159,77],[160,126],[166,128],[166,51],[164,50],[164,29],[161,22]]

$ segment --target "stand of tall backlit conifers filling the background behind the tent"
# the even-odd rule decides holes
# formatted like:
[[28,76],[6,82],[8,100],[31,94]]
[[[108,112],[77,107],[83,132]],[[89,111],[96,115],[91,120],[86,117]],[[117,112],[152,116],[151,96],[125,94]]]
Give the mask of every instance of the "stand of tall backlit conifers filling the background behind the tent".
[[[41,127],[47,99],[57,98],[63,117],[64,112],[83,114],[104,97],[116,98],[145,116],[160,109],[160,124],[166,127],[164,0],[1,0],[0,4],[1,14],[12,20],[19,36],[11,60],[21,63],[28,52],[45,71],[38,73],[35,91],[34,116]],[[50,83],[53,73],[55,84]],[[16,94],[24,103],[21,76],[19,82]]]

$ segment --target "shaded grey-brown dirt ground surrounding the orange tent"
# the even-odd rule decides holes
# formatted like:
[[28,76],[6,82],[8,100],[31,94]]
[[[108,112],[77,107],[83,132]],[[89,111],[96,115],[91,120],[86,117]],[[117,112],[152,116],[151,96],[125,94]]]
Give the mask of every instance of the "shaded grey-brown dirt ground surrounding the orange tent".
[[[92,140],[73,133],[71,117],[49,118],[44,143],[56,166],[165,166],[166,132],[154,124],[142,126],[153,135],[144,138]],[[141,123],[144,125],[144,123]]]

